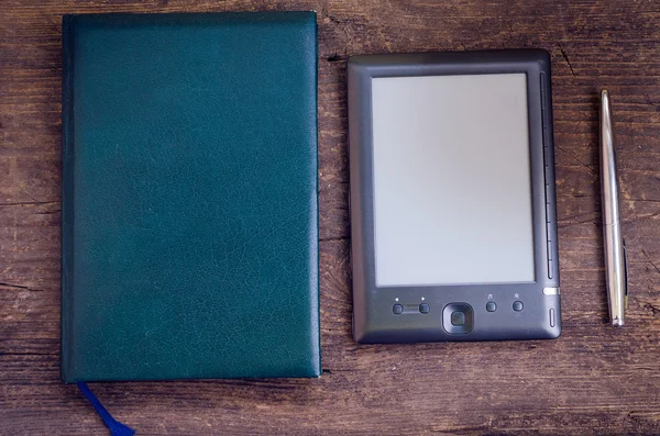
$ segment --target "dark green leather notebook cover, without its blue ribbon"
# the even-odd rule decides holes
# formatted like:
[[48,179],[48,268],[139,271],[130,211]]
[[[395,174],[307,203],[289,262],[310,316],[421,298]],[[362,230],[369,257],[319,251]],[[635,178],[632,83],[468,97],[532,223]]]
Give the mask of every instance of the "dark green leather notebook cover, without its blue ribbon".
[[314,12],[65,15],[66,382],[318,377]]

